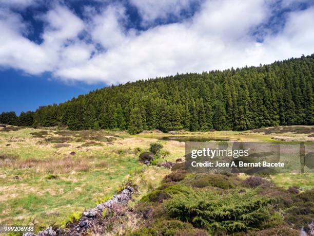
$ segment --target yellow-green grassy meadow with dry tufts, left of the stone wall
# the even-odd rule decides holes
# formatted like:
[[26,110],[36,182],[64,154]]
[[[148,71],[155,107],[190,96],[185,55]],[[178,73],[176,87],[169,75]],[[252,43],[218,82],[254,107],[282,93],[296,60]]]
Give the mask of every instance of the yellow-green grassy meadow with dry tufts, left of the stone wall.
[[[169,169],[145,166],[139,154],[152,142],[163,144],[162,161],[184,158],[185,143],[162,136],[227,137],[241,141],[312,141],[312,126],[246,132],[147,132],[128,135],[109,131],[0,128],[0,225],[35,224],[45,228],[64,224],[69,215],[94,207],[132,178],[139,185],[134,204],[156,189]],[[245,178],[245,174],[240,174]],[[281,173],[271,181],[289,188],[314,187],[314,174]]]

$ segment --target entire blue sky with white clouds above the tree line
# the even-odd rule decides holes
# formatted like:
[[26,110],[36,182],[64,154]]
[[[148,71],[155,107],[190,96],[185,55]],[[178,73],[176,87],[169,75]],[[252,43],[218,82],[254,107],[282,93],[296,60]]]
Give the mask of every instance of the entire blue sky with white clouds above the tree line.
[[0,0],[0,112],[314,53],[312,0]]

